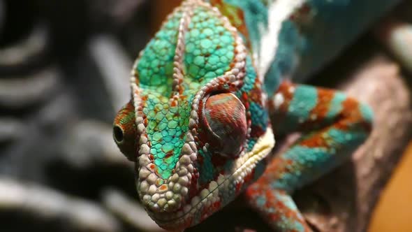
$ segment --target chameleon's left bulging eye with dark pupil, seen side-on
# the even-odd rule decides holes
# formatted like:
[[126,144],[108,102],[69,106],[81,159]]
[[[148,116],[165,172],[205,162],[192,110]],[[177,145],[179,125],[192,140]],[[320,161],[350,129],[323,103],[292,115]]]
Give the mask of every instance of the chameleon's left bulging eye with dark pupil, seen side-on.
[[115,122],[113,122],[113,139],[127,159],[136,161],[138,145],[135,141],[135,110],[131,102],[117,113]]

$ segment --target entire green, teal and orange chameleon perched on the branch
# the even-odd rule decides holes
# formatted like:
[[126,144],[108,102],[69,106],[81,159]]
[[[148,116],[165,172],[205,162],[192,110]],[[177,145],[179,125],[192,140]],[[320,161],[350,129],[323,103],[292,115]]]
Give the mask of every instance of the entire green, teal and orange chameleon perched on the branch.
[[[140,52],[113,136],[159,226],[196,225],[244,192],[277,231],[311,231],[290,194],[350,157],[373,113],[299,85],[399,1],[187,0]],[[333,77],[331,77],[333,78]],[[302,136],[274,156],[274,134]]]

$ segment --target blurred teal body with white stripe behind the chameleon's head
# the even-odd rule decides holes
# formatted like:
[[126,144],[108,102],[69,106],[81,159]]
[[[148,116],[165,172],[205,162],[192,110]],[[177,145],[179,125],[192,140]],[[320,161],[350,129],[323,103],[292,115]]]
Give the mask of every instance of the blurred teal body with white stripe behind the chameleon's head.
[[[244,35],[269,96],[304,80],[399,0],[209,0]],[[348,17],[351,15],[351,17]],[[246,25],[246,26],[245,26]]]

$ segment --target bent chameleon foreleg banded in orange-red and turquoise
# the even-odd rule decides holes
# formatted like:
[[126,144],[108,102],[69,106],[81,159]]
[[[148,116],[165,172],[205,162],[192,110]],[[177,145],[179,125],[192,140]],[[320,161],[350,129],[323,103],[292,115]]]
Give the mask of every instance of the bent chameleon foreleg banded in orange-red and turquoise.
[[290,194],[341,164],[368,136],[370,108],[341,92],[283,82],[271,101],[276,133],[302,136],[246,191],[277,231],[311,231]]

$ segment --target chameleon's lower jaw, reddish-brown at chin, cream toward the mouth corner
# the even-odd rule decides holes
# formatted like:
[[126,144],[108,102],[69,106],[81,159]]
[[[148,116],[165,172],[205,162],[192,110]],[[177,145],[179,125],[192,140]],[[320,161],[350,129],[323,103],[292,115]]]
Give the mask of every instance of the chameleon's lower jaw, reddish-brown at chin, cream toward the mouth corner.
[[268,127],[253,149],[235,161],[230,174],[219,175],[215,181],[209,183],[208,188],[200,191],[198,196],[191,198],[191,202],[180,210],[175,212],[148,211],[150,217],[164,229],[179,229],[198,224],[240,194],[240,189],[249,184],[245,182],[245,179],[248,179],[245,177],[251,175],[259,161],[270,154],[274,143],[272,129]]

